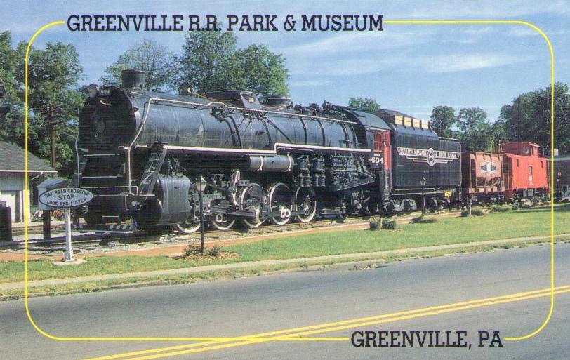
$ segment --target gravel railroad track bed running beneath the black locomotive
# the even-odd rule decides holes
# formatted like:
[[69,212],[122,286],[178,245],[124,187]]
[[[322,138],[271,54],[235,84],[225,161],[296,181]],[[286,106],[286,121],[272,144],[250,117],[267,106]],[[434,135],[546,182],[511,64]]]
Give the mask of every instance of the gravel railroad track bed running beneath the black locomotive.
[[[450,217],[457,216],[460,211],[444,211],[442,213],[430,214],[434,217]],[[394,216],[389,218],[390,220],[396,220],[396,222],[404,223],[409,222],[412,218],[420,215],[420,212],[414,212],[408,215]],[[257,237],[257,236],[275,236],[279,237],[279,234],[294,234],[303,232],[319,232],[319,229],[326,229],[326,231],[332,231],[333,228],[340,229],[352,229],[367,226],[371,220],[369,216],[359,216],[354,218],[347,218],[346,220],[339,221],[336,219],[328,220],[316,220],[310,223],[301,222],[291,222],[287,225],[264,225],[258,228],[237,228],[230,230],[217,230],[217,229],[207,229],[204,231],[206,241],[209,243],[223,242],[232,239],[243,239],[245,237]],[[61,225],[54,225],[56,229],[60,228]],[[41,227],[40,227],[41,229]],[[169,243],[175,244],[177,242],[184,243],[187,241],[198,241],[200,238],[199,232],[194,234],[181,234],[174,232],[171,234],[82,234],[79,236],[74,236],[73,244],[75,248],[81,248],[85,246],[114,246],[118,244],[137,244],[137,243]],[[54,237],[53,239],[38,239],[29,240],[28,248],[30,250],[48,250],[53,249],[57,251],[65,244],[65,237]],[[24,241],[12,241],[10,244],[1,246],[0,248],[11,248],[11,249],[22,249],[25,247]]]

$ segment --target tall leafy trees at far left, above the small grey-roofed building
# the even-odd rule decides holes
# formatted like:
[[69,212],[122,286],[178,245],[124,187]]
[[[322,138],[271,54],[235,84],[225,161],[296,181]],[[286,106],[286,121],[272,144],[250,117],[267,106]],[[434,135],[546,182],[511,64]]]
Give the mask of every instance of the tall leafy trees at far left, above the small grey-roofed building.
[[[0,34],[0,76],[8,93],[3,101],[10,111],[0,115],[0,140],[24,146],[24,54],[27,44],[13,48],[8,32]],[[50,157],[51,124],[55,126],[56,168],[72,173],[77,111],[84,96],[74,90],[82,67],[74,46],[48,43],[44,50],[29,53],[29,151],[43,159]],[[50,117],[53,109],[53,117]]]

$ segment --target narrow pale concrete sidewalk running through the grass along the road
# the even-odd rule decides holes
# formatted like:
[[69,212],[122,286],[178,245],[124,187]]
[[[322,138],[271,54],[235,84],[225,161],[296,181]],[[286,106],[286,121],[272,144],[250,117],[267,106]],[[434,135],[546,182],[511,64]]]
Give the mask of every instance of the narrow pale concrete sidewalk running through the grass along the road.
[[[568,237],[568,236],[570,236],[570,234],[555,235],[555,238],[561,238],[564,236]],[[199,267],[185,267],[185,268],[180,268],[180,269],[156,270],[156,271],[149,271],[149,272],[135,272],[135,273],[126,273],[126,274],[107,274],[107,275],[84,276],[84,277],[67,278],[67,279],[47,279],[47,280],[29,281],[28,285],[30,287],[34,287],[34,286],[81,283],[84,281],[105,281],[105,280],[112,280],[112,279],[126,279],[126,278],[144,277],[144,276],[194,274],[194,273],[198,273],[198,272],[212,272],[212,271],[219,271],[219,270],[244,269],[244,268],[248,268],[248,267],[288,265],[288,264],[296,264],[296,263],[307,264],[307,263],[311,263],[311,262],[326,262],[326,261],[338,260],[338,259],[343,259],[343,260],[347,260],[347,262],[350,262],[350,261],[358,261],[358,260],[381,259],[382,257],[389,256],[389,255],[404,255],[404,254],[409,254],[409,253],[422,253],[425,251],[439,251],[439,250],[453,250],[453,249],[457,249],[457,248],[467,248],[467,247],[475,247],[475,246],[493,246],[493,245],[502,245],[502,244],[519,243],[519,242],[545,241],[548,239],[550,239],[550,236],[530,236],[530,237],[519,237],[519,238],[501,239],[501,240],[473,241],[470,243],[438,245],[438,246],[421,246],[419,248],[405,248],[405,249],[388,250],[388,251],[374,251],[371,253],[352,253],[352,254],[340,254],[340,255],[314,256],[314,257],[310,257],[310,258],[236,262],[236,263],[232,263],[232,264],[206,265],[206,266],[199,266]],[[17,289],[17,288],[24,288],[24,286],[25,286],[24,282],[0,284],[0,291]]]

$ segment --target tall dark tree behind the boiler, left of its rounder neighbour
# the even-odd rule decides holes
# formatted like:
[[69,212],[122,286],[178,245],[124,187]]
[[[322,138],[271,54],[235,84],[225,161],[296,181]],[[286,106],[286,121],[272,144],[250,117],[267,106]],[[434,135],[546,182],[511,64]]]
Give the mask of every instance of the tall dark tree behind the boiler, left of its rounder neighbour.
[[232,32],[187,32],[183,55],[178,59],[178,83],[190,84],[198,93],[226,87],[221,80],[223,63],[235,50],[236,37]]

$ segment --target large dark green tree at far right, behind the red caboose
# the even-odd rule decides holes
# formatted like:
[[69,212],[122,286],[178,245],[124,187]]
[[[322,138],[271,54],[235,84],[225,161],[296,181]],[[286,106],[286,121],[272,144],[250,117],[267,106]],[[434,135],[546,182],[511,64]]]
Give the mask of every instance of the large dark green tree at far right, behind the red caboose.
[[[511,141],[531,141],[547,152],[550,140],[550,86],[519,95],[501,109],[505,132]],[[555,147],[570,152],[570,95],[568,84],[555,84]]]

